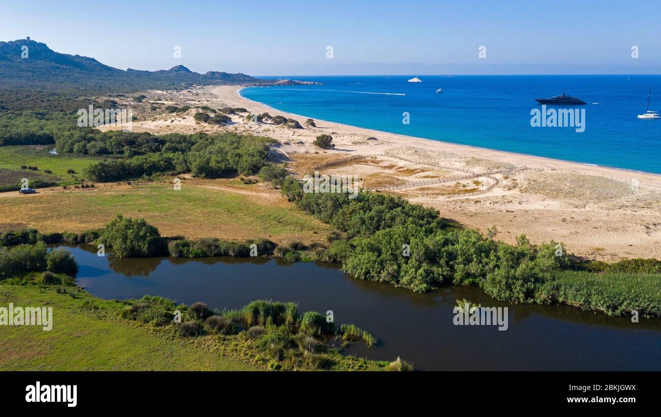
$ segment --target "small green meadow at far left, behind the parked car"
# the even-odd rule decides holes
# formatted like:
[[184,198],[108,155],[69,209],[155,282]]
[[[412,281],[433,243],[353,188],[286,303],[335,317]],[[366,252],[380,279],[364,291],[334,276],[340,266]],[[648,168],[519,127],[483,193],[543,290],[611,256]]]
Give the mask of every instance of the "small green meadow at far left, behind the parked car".
[[[62,178],[62,182],[72,182],[75,178],[84,178],[83,169],[97,163],[101,157],[86,155],[53,155],[48,147],[36,149],[31,146],[0,146],[0,168],[20,169],[21,165],[37,167],[38,172],[53,171],[53,174]],[[67,174],[67,170],[77,172],[74,176]]]

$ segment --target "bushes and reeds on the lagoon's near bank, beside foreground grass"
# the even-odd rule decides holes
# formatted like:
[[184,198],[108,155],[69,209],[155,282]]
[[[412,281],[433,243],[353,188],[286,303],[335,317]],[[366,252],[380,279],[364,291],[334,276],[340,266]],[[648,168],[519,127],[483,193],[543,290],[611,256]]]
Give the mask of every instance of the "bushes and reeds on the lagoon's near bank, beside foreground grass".
[[[174,328],[184,338],[236,335],[252,350],[265,355],[269,360],[268,368],[273,370],[342,369],[348,363],[352,364],[351,369],[368,369],[368,365],[371,369],[389,367],[386,362],[340,356],[322,338],[334,336],[347,340],[356,336],[358,328],[352,324],[338,328],[314,311],[301,314],[294,303],[257,300],[241,309],[216,312],[210,311],[204,303],[186,307],[162,297],[145,296],[128,304],[121,312],[124,319]],[[175,311],[181,314],[178,321],[175,321]],[[375,339],[370,342],[375,344]]]

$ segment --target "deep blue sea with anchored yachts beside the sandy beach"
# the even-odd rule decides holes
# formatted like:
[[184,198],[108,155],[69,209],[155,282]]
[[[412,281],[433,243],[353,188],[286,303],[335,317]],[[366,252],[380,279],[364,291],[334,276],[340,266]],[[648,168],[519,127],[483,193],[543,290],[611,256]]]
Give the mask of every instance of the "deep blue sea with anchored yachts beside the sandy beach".
[[[408,83],[412,77],[288,76],[325,85],[251,87],[241,95],[314,119],[661,174],[661,120],[637,118],[650,89],[650,109],[661,111],[661,75],[420,75],[422,83]],[[439,87],[444,93],[436,94]],[[586,109],[585,132],[533,128],[530,112],[541,109],[534,98],[564,90],[588,103],[578,106]]]

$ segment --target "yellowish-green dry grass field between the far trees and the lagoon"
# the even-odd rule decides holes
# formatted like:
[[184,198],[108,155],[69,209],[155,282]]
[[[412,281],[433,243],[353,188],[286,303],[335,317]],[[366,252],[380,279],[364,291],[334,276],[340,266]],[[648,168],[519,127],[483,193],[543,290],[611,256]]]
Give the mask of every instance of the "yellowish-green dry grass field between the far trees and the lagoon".
[[223,180],[186,180],[181,190],[153,182],[48,190],[30,196],[15,193],[0,200],[0,218],[49,233],[102,227],[123,214],[143,217],[164,236],[265,237],[276,243],[321,241],[329,231],[328,225],[288,204],[278,192],[262,193],[257,186],[241,186],[236,192],[219,189],[225,184]]

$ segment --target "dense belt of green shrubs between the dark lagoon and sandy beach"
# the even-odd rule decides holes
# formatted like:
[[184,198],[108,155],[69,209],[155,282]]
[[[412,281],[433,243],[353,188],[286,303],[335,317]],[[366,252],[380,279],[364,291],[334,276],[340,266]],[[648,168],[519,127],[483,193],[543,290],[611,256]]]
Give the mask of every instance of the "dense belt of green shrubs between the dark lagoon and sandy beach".
[[[561,302],[613,315],[636,309],[661,316],[661,261],[584,264],[559,251],[555,242],[533,245],[522,235],[508,245],[472,229],[449,227],[437,210],[403,198],[304,193],[291,178],[281,188],[298,208],[338,229],[327,248],[310,256],[341,261],[342,270],[355,278],[418,292],[445,284],[479,285],[512,303]],[[605,272],[572,275],[570,270]]]

